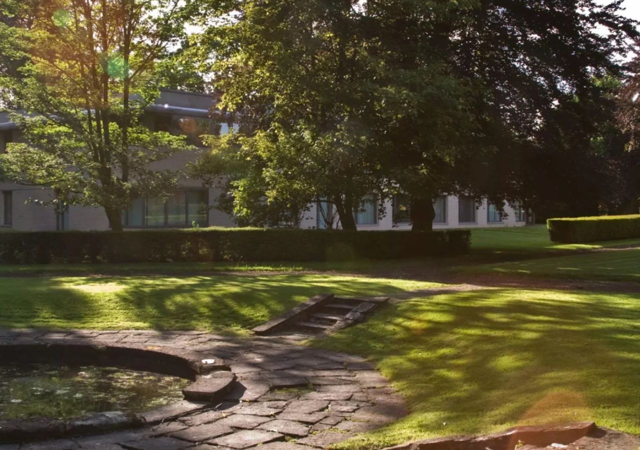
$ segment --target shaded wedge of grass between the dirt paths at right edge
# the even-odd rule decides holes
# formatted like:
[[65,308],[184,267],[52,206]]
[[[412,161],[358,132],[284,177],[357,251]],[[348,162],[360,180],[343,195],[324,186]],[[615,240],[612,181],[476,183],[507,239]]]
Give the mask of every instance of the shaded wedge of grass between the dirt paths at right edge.
[[474,272],[598,281],[640,281],[640,249],[469,267]]

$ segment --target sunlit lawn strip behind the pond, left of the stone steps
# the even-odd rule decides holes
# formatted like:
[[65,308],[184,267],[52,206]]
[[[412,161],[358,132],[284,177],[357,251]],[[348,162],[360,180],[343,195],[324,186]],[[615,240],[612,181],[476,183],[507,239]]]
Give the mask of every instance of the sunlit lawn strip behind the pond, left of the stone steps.
[[4,277],[0,327],[244,334],[317,293],[381,295],[434,283],[316,274]]

